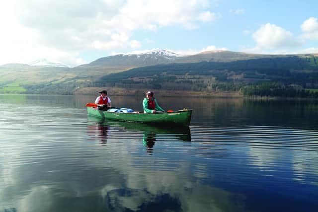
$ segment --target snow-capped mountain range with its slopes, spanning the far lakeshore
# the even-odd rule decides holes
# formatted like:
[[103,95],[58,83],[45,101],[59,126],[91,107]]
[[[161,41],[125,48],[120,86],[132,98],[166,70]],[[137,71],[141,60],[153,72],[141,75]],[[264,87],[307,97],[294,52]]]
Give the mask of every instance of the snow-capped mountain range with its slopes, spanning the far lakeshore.
[[90,87],[213,91],[229,83],[231,89],[238,90],[261,81],[318,88],[318,54],[207,51],[178,55],[155,49],[103,57],[73,68],[45,59],[28,65],[0,66],[0,93],[21,90],[15,87],[22,87],[27,93],[43,94],[88,94]]

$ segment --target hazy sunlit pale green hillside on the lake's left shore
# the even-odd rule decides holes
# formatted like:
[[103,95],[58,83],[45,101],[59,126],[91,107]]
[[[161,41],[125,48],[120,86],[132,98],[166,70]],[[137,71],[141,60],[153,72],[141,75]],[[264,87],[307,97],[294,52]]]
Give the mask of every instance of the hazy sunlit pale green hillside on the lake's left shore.
[[[0,66],[0,93],[73,94],[79,87],[91,86],[92,81],[105,74],[127,69],[44,68],[7,64]],[[13,88],[12,83],[16,88]]]

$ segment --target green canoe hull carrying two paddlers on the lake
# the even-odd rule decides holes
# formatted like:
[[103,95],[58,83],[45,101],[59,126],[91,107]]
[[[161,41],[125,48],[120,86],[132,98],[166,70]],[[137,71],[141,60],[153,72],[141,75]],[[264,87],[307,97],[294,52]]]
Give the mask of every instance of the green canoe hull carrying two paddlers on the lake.
[[97,110],[94,107],[87,107],[87,113],[91,116],[123,122],[189,126],[191,121],[192,110],[183,109],[169,113],[119,113]]

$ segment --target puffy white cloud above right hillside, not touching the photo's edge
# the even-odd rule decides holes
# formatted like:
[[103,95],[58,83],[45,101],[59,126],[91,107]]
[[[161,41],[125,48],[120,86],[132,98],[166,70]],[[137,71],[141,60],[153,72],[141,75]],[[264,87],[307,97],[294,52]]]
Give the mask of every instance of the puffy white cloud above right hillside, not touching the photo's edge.
[[291,48],[301,45],[291,32],[271,23],[262,25],[252,34],[252,37],[256,42],[255,49],[258,50]]

